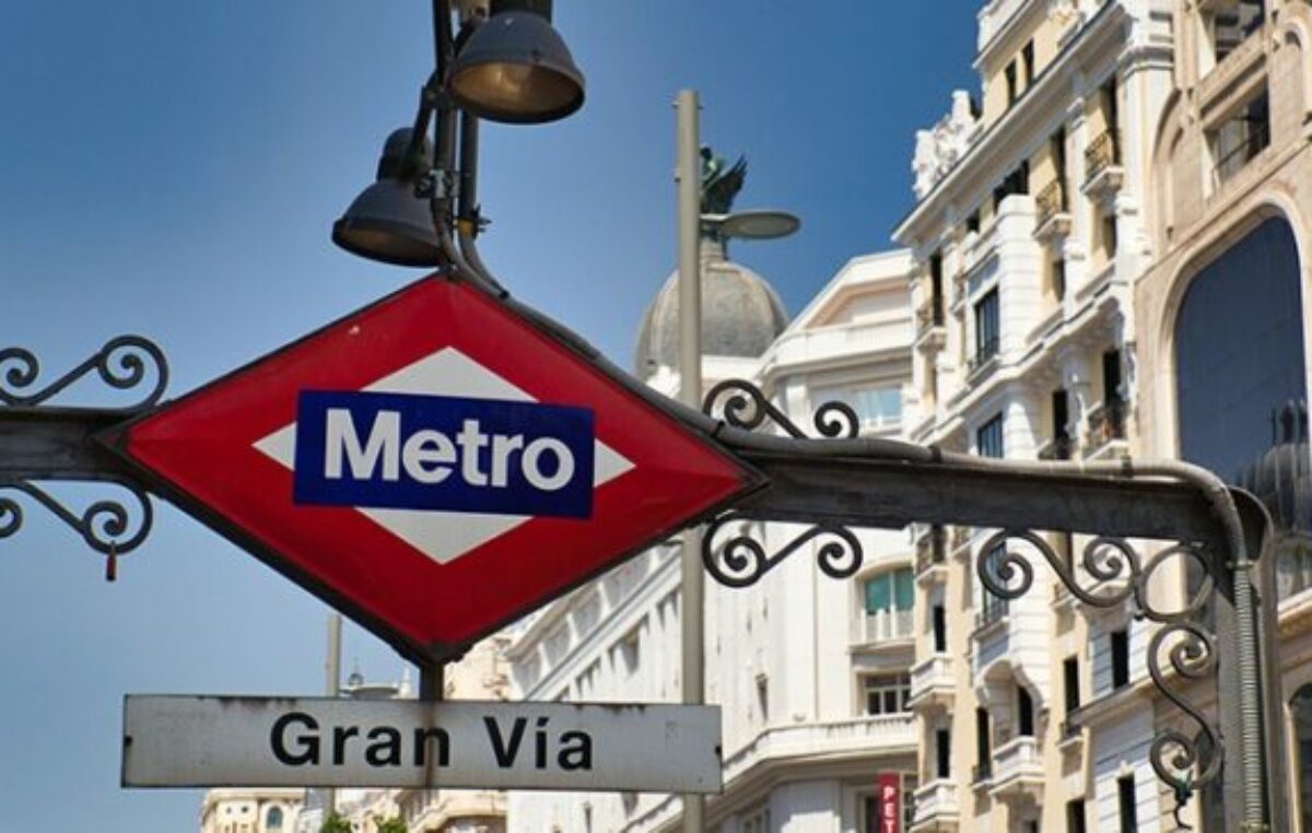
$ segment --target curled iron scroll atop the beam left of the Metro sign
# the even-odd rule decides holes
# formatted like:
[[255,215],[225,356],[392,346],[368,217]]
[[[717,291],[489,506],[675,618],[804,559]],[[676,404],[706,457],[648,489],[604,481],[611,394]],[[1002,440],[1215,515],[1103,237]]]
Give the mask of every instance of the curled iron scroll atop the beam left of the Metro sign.
[[0,349],[0,404],[31,408],[54,399],[79,379],[94,373],[109,387],[127,391],[150,376],[154,384],[121,411],[139,411],[159,403],[168,387],[168,361],[159,346],[140,336],[118,336],[54,382],[38,387],[41,362],[24,348]]

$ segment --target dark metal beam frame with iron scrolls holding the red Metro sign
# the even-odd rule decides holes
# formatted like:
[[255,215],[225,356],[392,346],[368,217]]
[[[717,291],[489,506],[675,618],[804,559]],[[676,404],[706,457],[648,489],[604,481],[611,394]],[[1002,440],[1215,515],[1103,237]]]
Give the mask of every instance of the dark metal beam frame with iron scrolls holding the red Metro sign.
[[[782,558],[821,537],[824,540],[816,550],[819,567],[836,577],[851,576],[861,564],[861,551],[848,527],[903,527],[912,522],[983,526],[1001,530],[997,543],[1023,540],[1031,547],[1035,544],[1031,530],[1036,529],[1094,535],[1098,546],[1086,550],[1082,565],[1096,577],[1122,579],[1127,589],[1114,603],[1130,602],[1139,614],[1162,626],[1153,648],[1165,652],[1166,665],[1160,657],[1152,660],[1153,681],[1191,727],[1189,733],[1158,731],[1152,746],[1158,777],[1181,803],[1208,779],[1221,778],[1228,826],[1286,828],[1284,779],[1270,777],[1267,769],[1269,761],[1284,760],[1286,742],[1273,670],[1279,666],[1274,606],[1263,603],[1275,598],[1271,560],[1262,558],[1269,547],[1270,519],[1252,496],[1227,489],[1210,474],[1178,463],[981,460],[911,443],[862,439],[857,437],[855,415],[838,404],[817,411],[819,437],[810,438],[758,390],[743,382],[722,386],[708,396],[707,411],[719,409],[719,416],[698,413],[651,391],[568,329],[508,298],[504,290],[463,273],[451,274],[450,279],[468,279],[657,412],[718,445],[723,454],[758,475],[752,489],[690,521],[710,522],[706,565],[731,586],[750,584]],[[123,358],[134,350],[131,359]],[[45,404],[93,370],[112,387],[140,386],[151,376],[151,359],[156,362],[157,382],[136,405],[97,409]],[[121,424],[142,418],[159,401],[167,365],[157,348],[136,337],[115,340],[71,374],[35,392],[26,391],[38,376],[35,358],[26,350],[9,349],[0,352],[0,365],[5,362],[17,362],[17,367],[0,375],[0,405],[4,405],[0,407],[0,538],[16,534],[24,522],[22,506],[4,492],[25,495],[105,555],[112,575],[117,558],[146,539],[152,518],[147,492],[154,492],[180,504],[299,584],[321,592],[329,603],[344,603],[328,588],[316,588],[314,581],[289,569],[277,554],[251,540],[243,530],[211,517],[205,506],[109,451],[105,439],[112,446]],[[761,428],[769,433],[756,432]],[[109,481],[127,489],[135,502],[106,498],[79,514],[39,487],[41,480],[63,479]],[[720,530],[744,518],[802,522],[811,529],[774,554],[765,552],[750,538],[720,539]],[[647,546],[673,531],[659,530]],[[1172,544],[1172,558],[1203,567],[1211,580],[1200,596],[1206,597],[1202,601],[1215,602],[1215,627],[1204,628],[1197,620],[1200,597],[1177,611],[1158,611],[1148,603],[1147,585],[1162,559],[1145,559],[1130,547],[1127,538],[1164,539]],[[619,554],[614,563],[643,548]],[[1085,601],[1093,603],[1107,601],[1080,586],[1050,551],[1043,547],[1038,551],[1072,593],[1088,596]],[[980,559],[976,572],[991,592],[1002,597],[1019,596],[1034,577],[1034,567],[1013,552],[996,561]],[[600,571],[579,584],[596,575]],[[379,628],[378,622],[367,618],[362,624],[375,632]],[[434,661],[434,653],[422,647],[392,644],[421,665],[430,666]],[[451,657],[458,649],[446,647],[441,655]],[[1200,677],[1215,680],[1218,691],[1236,693],[1218,698],[1218,721],[1190,704],[1173,682]],[[1200,745],[1202,737],[1210,742]],[[1240,742],[1227,749],[1221,739]],[[1207,746],[1215,752],[1206,754]]]

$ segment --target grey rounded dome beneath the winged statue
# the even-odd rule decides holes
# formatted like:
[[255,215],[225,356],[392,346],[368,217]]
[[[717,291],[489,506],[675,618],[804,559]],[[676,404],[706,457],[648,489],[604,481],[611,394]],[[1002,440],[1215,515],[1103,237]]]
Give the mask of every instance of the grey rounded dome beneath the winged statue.
[[[729,261],[724,247],[702,240],[702,354],[754,358],[789,325],[778,293],[757,273]],[[647,307],[634,365],[640,378],[678,367],[678,272]]]

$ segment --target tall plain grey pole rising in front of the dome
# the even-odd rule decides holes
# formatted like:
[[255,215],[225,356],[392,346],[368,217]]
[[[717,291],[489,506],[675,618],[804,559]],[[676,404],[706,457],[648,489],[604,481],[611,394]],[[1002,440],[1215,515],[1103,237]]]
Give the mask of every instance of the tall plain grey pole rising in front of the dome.
[[[678,373],[680,399],[697,408],[702,400],[702,275],[699,226],[702,177],[698,165],[698,98],[685,89],[678,110]],[[682,561],[682,656],[684,703],[701,704],[706,698],[702,537],[697,529],[684,533]],[[705,829],[706,802],[701,795],[684,796],[685,833]]]

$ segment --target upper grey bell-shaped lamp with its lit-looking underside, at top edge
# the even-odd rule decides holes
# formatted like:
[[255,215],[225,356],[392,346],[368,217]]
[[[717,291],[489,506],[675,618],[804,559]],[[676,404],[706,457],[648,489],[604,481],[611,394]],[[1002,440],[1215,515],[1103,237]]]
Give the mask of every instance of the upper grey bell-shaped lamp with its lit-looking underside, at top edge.
[[551,0],[493,0],[492,17],[455,56],[450,92],[470,113],[514,125],[554,122],[581,108],[583,72],[551,26]]

